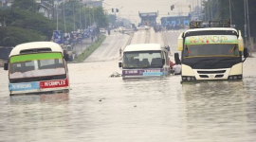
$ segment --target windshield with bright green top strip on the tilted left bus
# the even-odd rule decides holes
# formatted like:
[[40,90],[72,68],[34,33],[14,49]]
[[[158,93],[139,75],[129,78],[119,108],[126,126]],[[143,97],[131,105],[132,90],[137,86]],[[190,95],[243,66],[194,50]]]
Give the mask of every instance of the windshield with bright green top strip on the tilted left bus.
[[9,59],[9,79],[48,77],[65,74],[60,52],[12,56]]

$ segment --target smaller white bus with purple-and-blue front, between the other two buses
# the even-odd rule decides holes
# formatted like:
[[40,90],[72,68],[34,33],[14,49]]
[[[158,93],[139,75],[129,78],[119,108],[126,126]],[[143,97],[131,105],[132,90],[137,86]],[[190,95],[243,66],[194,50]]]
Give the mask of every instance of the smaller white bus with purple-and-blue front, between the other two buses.
[[163,77],[170,75],[168,51],[160,44],[131,44],[123,51],[122,78]]

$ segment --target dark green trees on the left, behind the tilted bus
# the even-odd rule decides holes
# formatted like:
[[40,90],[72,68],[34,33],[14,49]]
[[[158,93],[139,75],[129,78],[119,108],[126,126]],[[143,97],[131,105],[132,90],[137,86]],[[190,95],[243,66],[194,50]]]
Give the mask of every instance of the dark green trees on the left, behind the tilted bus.
[[57,9],[54,0],[45,2],[52,18],[38,12],[39,4],[35,0],[15,0],[9,9],[0,9],[0,46],[50,41],[53,30],[57,29],[57,19],[58,29],[64,32],[84,29],[93,23],[98,32],[99,27],[108,26],[108,16],[101,7],[88,8],[79,1],[69,1],[58,5]]

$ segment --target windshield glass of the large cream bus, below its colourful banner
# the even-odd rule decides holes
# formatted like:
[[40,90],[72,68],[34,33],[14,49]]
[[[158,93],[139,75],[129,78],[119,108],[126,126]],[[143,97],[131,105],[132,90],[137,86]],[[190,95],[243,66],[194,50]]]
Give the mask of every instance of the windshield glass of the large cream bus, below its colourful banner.
[[185,45],[184,57],[239,57],[238,44]]

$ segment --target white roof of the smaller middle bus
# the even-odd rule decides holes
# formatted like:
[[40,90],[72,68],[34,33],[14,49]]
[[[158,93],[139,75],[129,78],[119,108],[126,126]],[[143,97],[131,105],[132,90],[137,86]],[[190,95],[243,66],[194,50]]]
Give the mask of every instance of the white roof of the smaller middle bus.
[[152,51],[152,50],[162,50],[160,44],[130,44],[124,49],[124,52],[130,51]]

